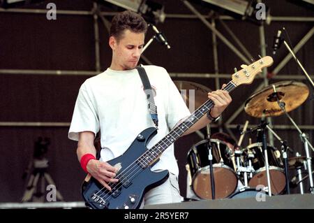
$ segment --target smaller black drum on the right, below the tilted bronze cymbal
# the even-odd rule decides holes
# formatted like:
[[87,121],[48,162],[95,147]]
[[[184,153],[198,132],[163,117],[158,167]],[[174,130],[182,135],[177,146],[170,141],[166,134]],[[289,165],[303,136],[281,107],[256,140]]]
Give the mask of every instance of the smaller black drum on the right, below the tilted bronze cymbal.
[[[253,178],[248,181],[249,187],[257,187],[264,185],[267,187],[267,171],[265,167],[264,151],[262,143],[253,143],[246,148],[247,152],[252,152],[252,166],[255,170]],[[285,189],[285,171],[283,170],[283,162],[281,161],[281,153],[276,148],[267,145],[267,157],[269,162],[269,175],[271,182],[271,194],[280,194]]]

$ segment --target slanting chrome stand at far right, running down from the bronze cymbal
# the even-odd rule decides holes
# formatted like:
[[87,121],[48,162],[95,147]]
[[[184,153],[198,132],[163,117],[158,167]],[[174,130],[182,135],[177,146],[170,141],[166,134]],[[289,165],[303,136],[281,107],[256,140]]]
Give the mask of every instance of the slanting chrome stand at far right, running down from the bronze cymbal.
[[313,175],[312,175],[312,163],[311,163],[310,152],[308,150],[308,146],[310,146],[311,149],[314,151],[313,145],[311,145],[311,143],[308,141],[308,136],[306,136],[306,134],[304,134],[301,131],[301,129],[299,129],[299,127],[294,122],[294,120],[292,120],[292,117],[290,117],[290,115],[287,113],[287,111],[285,110],[285,103],[280,101],[279,96],[278,96],[278,92],[276,91],[275,85],[272,85],[272,86],[273,86],[273,89],[274,89],[273,96],[277,99],[278,106],[281,108],[281,110],[283,110],[283,113],[285,113],[285,115],[292,122],[292,124],[297,129],[297,131],[299,131],[299,135],[300,135],[301,141],[302,141],[302,143],[304,143],[304,149],[306,151],[306,161],[307,161],[307,164],[308,164],[307,165],[308,166],[308,179],[310,180],[310,192],[311,192],[311,194],[314,194]]

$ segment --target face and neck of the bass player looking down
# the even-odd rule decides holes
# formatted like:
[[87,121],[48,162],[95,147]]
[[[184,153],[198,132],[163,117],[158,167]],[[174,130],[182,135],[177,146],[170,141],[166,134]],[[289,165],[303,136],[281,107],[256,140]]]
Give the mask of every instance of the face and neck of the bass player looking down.
[[135,34],[126,29],[119,41],[113,36],[109,40],[112,48],[111,69],[131,70],[137,65],[144,46],[144,33]]

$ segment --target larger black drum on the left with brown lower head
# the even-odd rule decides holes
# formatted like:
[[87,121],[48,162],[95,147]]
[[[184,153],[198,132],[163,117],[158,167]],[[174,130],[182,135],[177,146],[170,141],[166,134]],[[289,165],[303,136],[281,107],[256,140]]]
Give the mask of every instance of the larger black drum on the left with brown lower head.
[[[230,196],[237,189],[238,178],[232,162],[232,150],[223,141],[210,139],[213,155],[213,171],[215,181],[215,198],[223,199]],[[200,199],[212,199],[211,178],[209,172],[209,150],[207,140],[193,145],[188,152],[188,165],[192,177],[193,192]]]

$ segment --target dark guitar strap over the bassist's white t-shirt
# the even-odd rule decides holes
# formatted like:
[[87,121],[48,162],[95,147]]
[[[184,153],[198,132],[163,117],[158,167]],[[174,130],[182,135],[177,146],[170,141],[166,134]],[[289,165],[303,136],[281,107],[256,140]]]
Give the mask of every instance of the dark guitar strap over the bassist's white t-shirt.
[[151,83],[149,82],[149,78],[147,76],[147,73],[144,67],[136,66],[136,69],[138,73],[140,74],[140,78],[144,86],[144,92],[147,95],[148,109],[149,109],[149,113],[151,114],[151,119],[153,120],[156,128],[158,129],[157,106],[154,101],[154,92],[153,92],[153,89],[151,89]]

